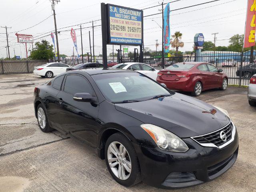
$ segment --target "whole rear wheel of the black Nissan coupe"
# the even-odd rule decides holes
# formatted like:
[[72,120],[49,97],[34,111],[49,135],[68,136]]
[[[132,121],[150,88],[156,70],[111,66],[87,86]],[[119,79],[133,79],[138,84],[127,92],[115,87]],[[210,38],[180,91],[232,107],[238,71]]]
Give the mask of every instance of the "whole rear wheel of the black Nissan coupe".
[[36,113],[37,113],[38,126],[41,129],[41,131],[46,133],[53,131],[54,129],[50,128],[49,126],[46,110],[42,103],[40,103],[37,106]]

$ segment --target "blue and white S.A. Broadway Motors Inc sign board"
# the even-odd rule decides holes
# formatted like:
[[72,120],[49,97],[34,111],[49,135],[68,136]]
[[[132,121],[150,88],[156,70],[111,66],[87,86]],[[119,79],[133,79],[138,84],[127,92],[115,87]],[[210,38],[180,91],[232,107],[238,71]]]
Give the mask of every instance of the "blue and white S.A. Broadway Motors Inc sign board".
[[143,11],[107,4],[108,44],[142,45]]

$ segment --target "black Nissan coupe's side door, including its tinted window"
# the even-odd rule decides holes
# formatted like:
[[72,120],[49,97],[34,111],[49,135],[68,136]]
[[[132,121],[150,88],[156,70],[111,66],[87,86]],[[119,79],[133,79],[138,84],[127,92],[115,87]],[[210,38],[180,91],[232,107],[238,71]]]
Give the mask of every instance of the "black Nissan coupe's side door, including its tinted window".
[[96,147],[96,130],[100,126],[97,121],[99,106],[73,100],[76,93],[90,93],[96,97],[90,82],[84,76],[68,74],[63,84],[56,102],[59,109],[58,124],[65,132]]

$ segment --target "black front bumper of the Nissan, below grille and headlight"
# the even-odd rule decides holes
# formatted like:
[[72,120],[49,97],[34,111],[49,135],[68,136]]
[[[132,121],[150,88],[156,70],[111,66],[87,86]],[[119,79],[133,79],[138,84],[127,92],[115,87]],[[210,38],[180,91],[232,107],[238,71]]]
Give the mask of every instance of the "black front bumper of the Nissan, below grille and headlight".
[[181,188],[208,182],[228,170],[238,155],[238,134],[225,148],[203,147],[191,138],[185,153],[168,152],[134,144],[142,181],[158,188]]

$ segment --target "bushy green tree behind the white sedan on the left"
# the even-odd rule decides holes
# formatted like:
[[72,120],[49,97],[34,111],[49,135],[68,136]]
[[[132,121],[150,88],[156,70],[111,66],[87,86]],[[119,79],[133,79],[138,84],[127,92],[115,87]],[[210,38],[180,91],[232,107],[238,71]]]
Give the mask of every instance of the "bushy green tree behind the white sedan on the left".
[[53,45],[46,40],[36,42],[36,47],[30,52],[29,58],[34,60],[49,60],[54,58]]

